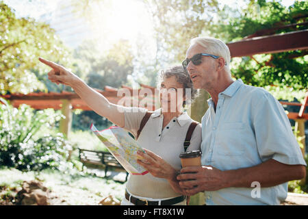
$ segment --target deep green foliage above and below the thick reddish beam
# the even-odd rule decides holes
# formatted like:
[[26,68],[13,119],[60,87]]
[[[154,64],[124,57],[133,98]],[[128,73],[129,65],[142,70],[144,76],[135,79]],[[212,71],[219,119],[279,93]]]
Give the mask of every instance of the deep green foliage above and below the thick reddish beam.
[[[227,5],[220,19],[209,27],[213,36],[231,42],[246,36],[282,34],[307,29],[308,2],[295,1],[285,8],[279,1],[250,1],[242,11]],[[233,16],[230,16],[230,12]],[[283,27],[298,24],[296,27]],[[233,58],[231,72],[244,83],[270,90],[279,99],[303,99],[308,87],[307,50]]]

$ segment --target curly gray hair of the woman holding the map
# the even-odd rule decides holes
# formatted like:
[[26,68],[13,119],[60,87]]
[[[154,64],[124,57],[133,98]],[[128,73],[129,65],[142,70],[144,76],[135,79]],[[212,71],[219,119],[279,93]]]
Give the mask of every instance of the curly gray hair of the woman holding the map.
[[[196,96],[197,90],[192,85],[190,75],[186,70],[184,70],[183,66],[171,66],[170,68],[160,70],[157,75],[157,88],[160,89],[160,85],[165,78],[172,76],[175,76],[177,82],[183,85],[183,94],[185,94],[186,97],[186,101],[183,101],[183,107],[192,103],[192,100]],[[190,93],[186,93],[188,90],[190,90]]]

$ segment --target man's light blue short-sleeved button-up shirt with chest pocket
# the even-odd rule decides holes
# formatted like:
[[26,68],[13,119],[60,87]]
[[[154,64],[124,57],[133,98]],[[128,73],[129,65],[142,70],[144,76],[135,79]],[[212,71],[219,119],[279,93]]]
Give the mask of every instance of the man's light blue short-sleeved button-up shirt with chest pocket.
[[[220,170],[256,166],[268,159],[306,165],[282,105],[264,90],[234,81],[218,95],[216,111],[209,99],[202,118],[202,164]],[[279,205],[287,183],[261,188],[205,191],[207,205]]]

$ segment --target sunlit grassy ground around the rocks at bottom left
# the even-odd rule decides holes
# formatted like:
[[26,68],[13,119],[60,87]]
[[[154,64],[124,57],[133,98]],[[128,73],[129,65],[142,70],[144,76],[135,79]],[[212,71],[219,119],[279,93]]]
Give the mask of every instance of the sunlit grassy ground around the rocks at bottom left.
[[125,184],[92,175],[68,175],[59,170],[21,172],[0,168],[0,205],[13,204],[23,181],[36,180],[51,190],[50,205],[99,205],[107,196],[121,201]]

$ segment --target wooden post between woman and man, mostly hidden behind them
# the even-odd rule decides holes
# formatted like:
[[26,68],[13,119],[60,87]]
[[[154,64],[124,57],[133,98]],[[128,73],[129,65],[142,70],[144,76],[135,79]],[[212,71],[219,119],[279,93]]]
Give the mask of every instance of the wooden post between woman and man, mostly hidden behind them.
[[[207,105],[207,99],[209,99],[209,94],[205,90],[199,90],[200,94],[193,101],[192,105],[188,108],[188,115],[193,120],[201,123],[201,119],[209,105]],[[204,205],[205,204],[205,196],[203,192],[199,192],[194,196],[190,197],[190,205]]]

